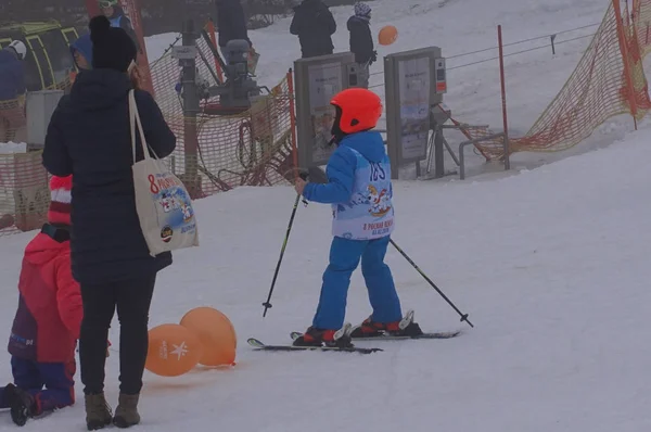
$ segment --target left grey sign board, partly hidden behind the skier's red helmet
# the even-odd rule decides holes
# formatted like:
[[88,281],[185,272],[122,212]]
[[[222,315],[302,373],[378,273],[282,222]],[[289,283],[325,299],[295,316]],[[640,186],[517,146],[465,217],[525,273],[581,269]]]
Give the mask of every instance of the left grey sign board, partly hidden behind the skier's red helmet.
[[350,52],[301,59],[294,62],[298,164],[302,168],[326,165],[335,110],[330,100],[349,87]]

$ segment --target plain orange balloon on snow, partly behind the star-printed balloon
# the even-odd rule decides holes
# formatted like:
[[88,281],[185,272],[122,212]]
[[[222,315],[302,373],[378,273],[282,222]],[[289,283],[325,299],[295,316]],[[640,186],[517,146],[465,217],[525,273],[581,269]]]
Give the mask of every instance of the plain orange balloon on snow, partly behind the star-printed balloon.
[[233,325],[226,315],[213,307],[196,307],[183,316],[181,326],[192,330],[203,344],[200,365],[234,364],[238,338]]

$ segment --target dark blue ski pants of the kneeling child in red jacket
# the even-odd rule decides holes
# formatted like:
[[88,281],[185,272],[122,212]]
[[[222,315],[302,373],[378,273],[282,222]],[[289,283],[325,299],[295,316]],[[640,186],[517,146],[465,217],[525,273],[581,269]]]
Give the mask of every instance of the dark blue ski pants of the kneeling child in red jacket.
[[[36,363],[11,358],[15,386],[29,392],[36,402],[37,414],[71,406],[75,403],[75,360],[71,363]],[[0,408],[10,408],[0,387]]]

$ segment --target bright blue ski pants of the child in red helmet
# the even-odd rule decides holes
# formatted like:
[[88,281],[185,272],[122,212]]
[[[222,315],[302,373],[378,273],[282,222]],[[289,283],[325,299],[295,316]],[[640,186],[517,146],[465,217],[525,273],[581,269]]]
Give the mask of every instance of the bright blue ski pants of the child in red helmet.
[[394,322],[403,318],[391,269],[384,264],[388,242],[388,236],[376,240],[348,240],[340,237],[332,240],[330,264],[323,274],[314,327],[329,330],[343,327],[350,277],[360,258],[361,274],[373,308],[372,320]]

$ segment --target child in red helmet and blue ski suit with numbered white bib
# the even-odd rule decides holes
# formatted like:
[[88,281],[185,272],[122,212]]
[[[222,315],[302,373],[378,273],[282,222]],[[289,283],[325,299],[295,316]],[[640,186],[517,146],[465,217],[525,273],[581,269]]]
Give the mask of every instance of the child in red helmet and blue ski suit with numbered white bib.
[[[330,103],[336,110],[332,135],[337,149],[328,162],[328,182],[297,179],[295,188],[308,201],[332,204],[334,239],[312,326],[294,345],[352,346],[350,338],[421,334],[416,322],[403,319],[391,269],[384,264],[394,229],[391,164],[382,136],[370,131],[382,114],[382,102],[369,90],[352,88]],[[350,276],[360,258],[373,314],[345,334],[337,330],[344,325]]]

